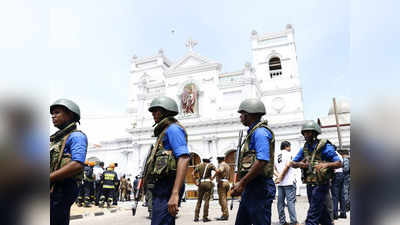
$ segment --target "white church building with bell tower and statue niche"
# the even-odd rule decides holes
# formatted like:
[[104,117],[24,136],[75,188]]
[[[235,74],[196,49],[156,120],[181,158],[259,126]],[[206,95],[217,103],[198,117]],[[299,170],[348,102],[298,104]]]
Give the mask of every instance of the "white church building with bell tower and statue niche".
[[[225,154],[228,163],[233,165],[239,130],[247,131],[237,113],[240,102],[246,98],[258,98],[264,102],[267,114],[263,119],[268,120],[275,133],[275,153],[279,153],[280,143],[284,140],[291,142],[292,154],[297,153],[304,144],[300,133],[304,108],[294,29],[287,25],[277,33],[259,34],[253,31],[249,43],[253,62],[244,63],[241,69],[232,72],[221,71],[220,62],[196,52],[196,44],[190,39],[186,43],[187,53],[176,62],[168,59],[162,50],[153,56],[133,58],[129,109],[125,118],[127,135],[91,145],[87,156],[89,160],[105,161],[106,164],[117,162],[120,174],[126,174],[131,179],[137,175],[155,141],[152,137],[154,121],[148,107],[154,97],[161,95],[169,96],[178,103],[179,114],[176,118],[188,132],[188,147],[192,156],[186,177],[188,193],[196,189],[190,173],[200,159],[211,157],[216,165],[217,155]],[[342,111],[343,115],[347,113],[346,121],[350,123],[350,111]],[[343,118],[347,118],[346,115]],[[332,123],[331,119],[324,118],[321,117],[321,121]],[[342,136],[345,137],[344,144],[349,146],[350,127],[347,128]],[[337,137],[336,127],[330,124],[324,130],[337,143],[337,138],[334,138]],[[296,173],[299,192],[305,195],[300,170]]]

